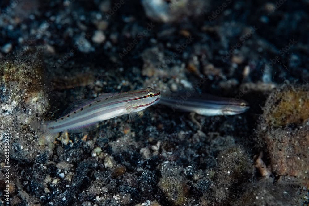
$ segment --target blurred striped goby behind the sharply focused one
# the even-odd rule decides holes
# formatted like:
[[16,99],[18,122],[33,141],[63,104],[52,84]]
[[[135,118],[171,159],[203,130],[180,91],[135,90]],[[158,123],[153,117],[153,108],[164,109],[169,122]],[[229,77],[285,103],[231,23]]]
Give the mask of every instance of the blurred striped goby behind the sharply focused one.
[[195,112],[205,116],[235,115],[247,111],[250,107],[244,100],[216,97],[210,94],[191,94],[189,92],[173,94],[172,97],[162,97],[160,104],[187,112]]

